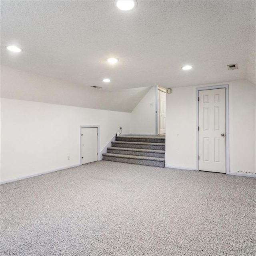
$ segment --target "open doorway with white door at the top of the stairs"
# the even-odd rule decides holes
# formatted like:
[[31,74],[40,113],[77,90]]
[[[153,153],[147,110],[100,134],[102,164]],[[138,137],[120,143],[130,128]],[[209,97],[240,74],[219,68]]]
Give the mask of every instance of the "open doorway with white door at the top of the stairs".
[[158,115],[157,115],[157,134],[165,135],[165,118],[166,118],[166,88],[158,86]]

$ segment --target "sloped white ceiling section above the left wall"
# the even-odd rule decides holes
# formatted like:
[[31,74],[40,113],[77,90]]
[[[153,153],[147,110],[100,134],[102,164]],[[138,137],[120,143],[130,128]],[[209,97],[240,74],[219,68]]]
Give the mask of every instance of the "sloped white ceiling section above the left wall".
[[60,79],[1,66],[1,97],[132,112],[151,87],[104,92]]

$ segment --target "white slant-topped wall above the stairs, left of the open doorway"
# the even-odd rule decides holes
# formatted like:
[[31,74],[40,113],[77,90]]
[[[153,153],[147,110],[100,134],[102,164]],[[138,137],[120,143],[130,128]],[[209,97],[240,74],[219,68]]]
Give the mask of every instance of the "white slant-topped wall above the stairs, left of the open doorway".
[[154,86],[132,111],[132,134],[156,134],[156,92]]

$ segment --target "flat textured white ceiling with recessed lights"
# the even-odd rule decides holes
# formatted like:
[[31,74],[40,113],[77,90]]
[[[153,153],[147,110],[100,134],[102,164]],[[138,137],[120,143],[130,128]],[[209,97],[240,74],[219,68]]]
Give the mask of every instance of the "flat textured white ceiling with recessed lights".
[[[255,1],[247,0],[138,0],[129,12],[113,0],[1,1],[1,62],[103,90],[256,84],[252,10]],[[12,44],[24,51],[8,52]],[[238,70],[228,70],[235,63]],[[186,64],[194,68],[182,70]]]

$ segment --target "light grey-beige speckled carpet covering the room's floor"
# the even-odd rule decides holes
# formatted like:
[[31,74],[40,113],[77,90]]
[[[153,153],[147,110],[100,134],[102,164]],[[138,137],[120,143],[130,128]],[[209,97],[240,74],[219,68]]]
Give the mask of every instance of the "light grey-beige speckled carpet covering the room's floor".
[[0,243],[16,256],[255,256],[256,179],[100,161],[20,180],[1,186]]

